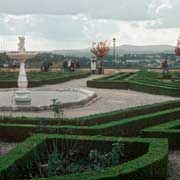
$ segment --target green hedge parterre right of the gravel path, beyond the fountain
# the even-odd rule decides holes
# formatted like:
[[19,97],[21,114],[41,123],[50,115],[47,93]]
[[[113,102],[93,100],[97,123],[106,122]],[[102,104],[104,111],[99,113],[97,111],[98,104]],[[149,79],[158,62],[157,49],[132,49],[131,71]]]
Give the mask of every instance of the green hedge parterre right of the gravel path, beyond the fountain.
[[180,97],[180,73],[163,75],[146,70],[137,73],[118,73],[111,76],[90,80],[88,87],[131,89],[158,95]]

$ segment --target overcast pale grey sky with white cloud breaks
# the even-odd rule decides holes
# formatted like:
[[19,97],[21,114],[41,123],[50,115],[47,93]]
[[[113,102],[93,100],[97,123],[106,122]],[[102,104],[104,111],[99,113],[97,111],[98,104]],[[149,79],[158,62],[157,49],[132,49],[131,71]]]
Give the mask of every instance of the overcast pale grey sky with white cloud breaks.
[[175,45],[180,0],[0,0],[0,49],[53,50],[117,45]]

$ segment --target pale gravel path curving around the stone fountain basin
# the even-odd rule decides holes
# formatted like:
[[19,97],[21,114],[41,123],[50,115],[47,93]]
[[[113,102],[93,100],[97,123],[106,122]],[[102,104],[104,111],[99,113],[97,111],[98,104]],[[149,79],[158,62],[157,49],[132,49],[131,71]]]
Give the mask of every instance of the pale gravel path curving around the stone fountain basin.
[[[99,76],[98,76],[99,77]],[[90,76],[84,79],[72,80],[55,85],[45,85],[43,87],[33,88],[33,90],[56,90],[60,88],[85,88],[95,91],[98,95],[98,100],[80,108],[64,109],[65,117],[78,117],[102,112],[109,112],[119,109],[126,109],[129,107],[135,107],[145,104],[153,104],[157,102],[174,100],[176,98],[160,95],[151,95],[146,93],[135,92],[131,90],[116,90],[116,89],[96,89],[86,87],[86,81],[97,78],[97,75]],[[53,113],[44,112],[1,112],[1,115],[12,116],[45,116],[52,117]]]

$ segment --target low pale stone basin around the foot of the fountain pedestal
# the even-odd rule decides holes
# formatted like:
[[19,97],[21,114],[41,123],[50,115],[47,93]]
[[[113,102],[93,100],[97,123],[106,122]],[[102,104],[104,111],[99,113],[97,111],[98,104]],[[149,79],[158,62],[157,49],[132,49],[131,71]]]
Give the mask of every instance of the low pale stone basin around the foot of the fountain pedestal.
[[97,97],[96,93],[82,88],[57,89],[54,91],[31,91],[30,104],[15,102],[16,90],[0,91],[0,111],[50,110],[52,99],[62,102],[63,108],[82,106]]

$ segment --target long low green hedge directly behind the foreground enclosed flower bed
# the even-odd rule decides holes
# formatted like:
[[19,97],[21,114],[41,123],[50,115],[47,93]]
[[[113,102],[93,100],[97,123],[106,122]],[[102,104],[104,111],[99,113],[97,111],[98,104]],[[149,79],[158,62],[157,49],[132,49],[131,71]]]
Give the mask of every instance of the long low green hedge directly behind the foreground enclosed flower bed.
[[[168,104],[168,103],[167,103]],[[171,103],[170,103],[171,104]],[[172,104],[171,104],[172,105]],[[150,106],[151,108],[153,106]],[[168,107],[168,106],[167,106]],[[147,108],[147,107],[146,107]],[[151,109],[150,108],[150,109]],[[122,111],[123,112],[123,111]],[[121,112],[121,113],[122,113]],[[117,115],[117,114],[116,114]],[[104,114],[103,114],[104,116]],[[8,140],[21,141],[31,132],[43,131],[46,133],[78,134],[78,135],[108,135],[108,136],[138,136],[140,131],[146,127],[158,125],[163,122],[174,121],[180,116],[180,108],[164,109],[151,111],[147,114],[137,114],[135,116],[121,116],[122,118],[110,117],[104,123],[92,123],[91,125],[67,124],[64,125],[55,120],[54,122],[42,120],[42,123],[33,123],[36,120],[27,120],[23,123],[21,120],[10,120],[6,118],[0,123],[0,138]],[[117,117],[117,116],[116,116]],[[91,118],[90,118],[91,119]],[[23,120],[26,121],[26,120]],[[68,121],[68,120],[67,120]],[[90,121],[90,120],[89,120]],[[96,119],[91,119],[96,122]],[[38,121],[37,121],[38,122]],[[69,122],[70,123],[70,122]]]

